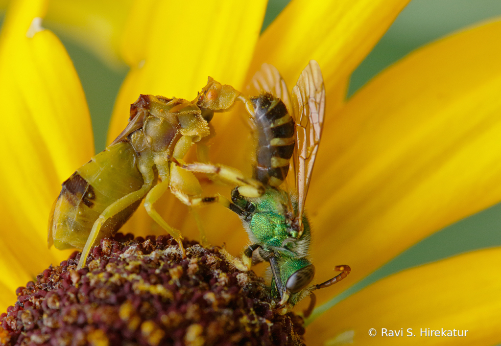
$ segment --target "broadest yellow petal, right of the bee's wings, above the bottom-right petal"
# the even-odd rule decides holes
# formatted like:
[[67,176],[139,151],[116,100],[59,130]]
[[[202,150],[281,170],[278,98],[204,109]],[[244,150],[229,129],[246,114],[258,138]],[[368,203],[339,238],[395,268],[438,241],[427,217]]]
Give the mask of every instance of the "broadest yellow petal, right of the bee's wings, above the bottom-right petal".
[[425,47],[326,117],[307,201],[312,253],[329,258],[315,263],[318,280],[335,264],[353,270],[321,298],[501,200],[499,37],[494,22]]

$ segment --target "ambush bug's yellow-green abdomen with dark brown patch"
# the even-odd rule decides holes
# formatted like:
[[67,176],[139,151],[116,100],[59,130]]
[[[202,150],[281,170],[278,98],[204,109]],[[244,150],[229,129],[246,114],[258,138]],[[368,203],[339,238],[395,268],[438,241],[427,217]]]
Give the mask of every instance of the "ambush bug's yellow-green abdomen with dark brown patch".
[[[49,245],[58,249],[83,248],[92,225],[113,202],[137,191],[143,177],[136,167],[130,143],[110,145],[80,167],[63,183],[49,222]],[[111,217],[101,228],[100,238],[110,236],[127,221],[141,200]]]

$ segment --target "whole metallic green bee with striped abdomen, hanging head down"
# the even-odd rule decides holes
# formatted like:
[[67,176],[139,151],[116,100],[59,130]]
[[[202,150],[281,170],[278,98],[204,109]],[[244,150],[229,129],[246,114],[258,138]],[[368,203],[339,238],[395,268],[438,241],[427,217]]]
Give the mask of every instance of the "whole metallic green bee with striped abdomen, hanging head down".
[[[230,260],[241,270],[248,270],[254,263],[270,262],[272,294],[280,298],[282,312],[312,295],[312,303],[305,311],[309,314],[315,304],[312,291],[342,280],[351,270],[347,265],[336,266],[339,275],[311,284],[315,267],[308,258],[311,235],[305,200],[324,124],[322,73],[312,60],[289,96],[277,69],[265,64],[251,86],[262,92],[250,102],[257,134],[253,178],[265,186],[265,193],[253,197],[240,187],[233,190],[229,208],[239,215],[252,244],[244,249],[241,261]],[[296,192],[283,186],[291,157]]]

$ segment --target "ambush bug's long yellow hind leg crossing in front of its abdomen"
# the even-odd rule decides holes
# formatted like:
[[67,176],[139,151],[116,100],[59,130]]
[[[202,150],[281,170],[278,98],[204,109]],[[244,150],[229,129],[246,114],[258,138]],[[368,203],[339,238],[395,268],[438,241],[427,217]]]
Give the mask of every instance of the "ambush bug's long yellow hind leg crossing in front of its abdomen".
[[89,252],[96,242],[96,240],[99,238],[99,233],[101,230],[101,227],[104,225],[104,223],[112,216],[116,215],[117,213],[121,212],[125,208],[127,208],[129,205],[132,203],[141,200],[146,192],[151,188],[151,181],[147,182],[145,180],[145,183],[143,186],[134,192],[129,193],[128,195],[125,195],[124,197],[120,198],[119,200],[115,201],[112,203],[110,206],[108,206],[102,213],[99,215],[98,219],[94,222],[94,225],[92,226],[92,230],[89,234],[89,237],[87,238],[87,242],[85,243],[85,246],[82,250],[82,254],[80,255],[80,260],[78,261],[77,269],[82,269],[85,266],[85,262],[87,261],[87,256],[89,255]]

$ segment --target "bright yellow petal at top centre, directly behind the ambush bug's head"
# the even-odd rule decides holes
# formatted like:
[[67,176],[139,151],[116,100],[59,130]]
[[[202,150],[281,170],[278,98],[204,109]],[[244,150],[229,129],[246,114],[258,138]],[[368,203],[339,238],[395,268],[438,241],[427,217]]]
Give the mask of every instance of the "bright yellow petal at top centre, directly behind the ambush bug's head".
[[[189,4],[189,5],[188,5]],[[127,123],[139,94],[194,99],[211,76],[241,87],[259,37],[266,1],[137,1],[122,44],[131,67],[108,136]]]

